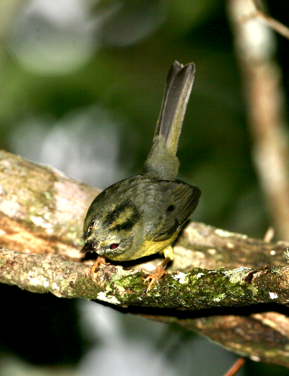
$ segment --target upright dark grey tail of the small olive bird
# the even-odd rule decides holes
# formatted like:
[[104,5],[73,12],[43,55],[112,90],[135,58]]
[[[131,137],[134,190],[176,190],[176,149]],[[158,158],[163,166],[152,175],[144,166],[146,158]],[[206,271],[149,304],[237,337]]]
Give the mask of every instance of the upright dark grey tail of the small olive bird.
[[176,179],[179,169],[176,153],[194,74],[194,63],[183,66],[175,61],[171,65],[153,146],[145,161],[143,174],[160,179]]

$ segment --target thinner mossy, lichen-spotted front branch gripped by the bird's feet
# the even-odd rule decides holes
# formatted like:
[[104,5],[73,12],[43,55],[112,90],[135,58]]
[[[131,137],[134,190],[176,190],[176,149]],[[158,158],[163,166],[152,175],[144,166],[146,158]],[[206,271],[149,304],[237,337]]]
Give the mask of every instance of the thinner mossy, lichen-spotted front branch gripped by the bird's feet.
[[229,271],[194,268],[175,271],[154,284],[148,296],[141,270],[105,265],[87,276],[88,266],[55,253],[27,255],[0,249],[0,282],[35,293],[58,297],[98,299],[120,306],[149,306],[196,310],[256,303],[289,303],[289,266],[268,264],[259,270],[240,267]]

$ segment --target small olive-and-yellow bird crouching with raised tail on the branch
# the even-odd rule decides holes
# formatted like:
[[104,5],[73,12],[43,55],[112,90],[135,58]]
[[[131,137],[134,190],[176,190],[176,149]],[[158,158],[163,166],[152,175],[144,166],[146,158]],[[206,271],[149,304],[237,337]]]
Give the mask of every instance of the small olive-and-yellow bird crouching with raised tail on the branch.
[[176,179],[180,164],[176,152],[194,74],[194,63],[183,66],[175,61],[171,65],[153,146],[142,173],[109,186],[88,209],[86,243],[80,253],[98,253],[89,269],[94,281],[95,269],[105,264],[105,258],[128,261],[163,253],[162,264],[144,281],[150,281],[148,293],[174,258],[172,243],[201,196],[199,188]]

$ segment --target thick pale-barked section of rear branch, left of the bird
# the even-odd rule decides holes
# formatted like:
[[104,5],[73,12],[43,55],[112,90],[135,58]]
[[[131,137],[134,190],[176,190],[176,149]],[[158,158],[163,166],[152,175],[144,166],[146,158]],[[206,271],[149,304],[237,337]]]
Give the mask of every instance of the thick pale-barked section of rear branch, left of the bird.
[[0,244],[79,261],[83,220],[100,192],[53,167],[0,151]]

